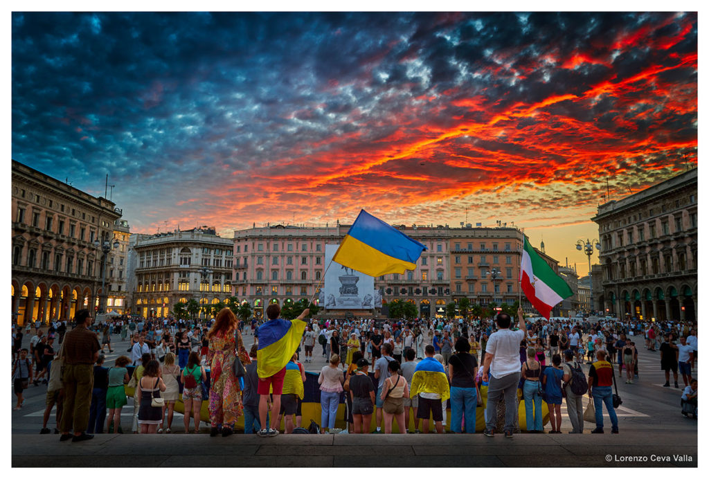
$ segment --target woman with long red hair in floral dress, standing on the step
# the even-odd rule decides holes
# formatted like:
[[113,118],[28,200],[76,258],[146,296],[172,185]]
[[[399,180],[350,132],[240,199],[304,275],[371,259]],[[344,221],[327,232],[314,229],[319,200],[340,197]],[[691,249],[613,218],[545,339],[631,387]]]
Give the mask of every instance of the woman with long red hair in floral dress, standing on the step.
[[211,386],[209,388],[209,420],[212,423],[210,436],[216,436],[217,425],[222,425],[222,436],[234,432],[234,423],[242,414],[241,388],[234,376],[233,364],[238,350],[242,364],[250,364],[251,359],[244,349],[241,333],[236,328],[234,313],[224,308],[219,312],[214,325],[209,330],[209,352],[207,363],[211,365]]

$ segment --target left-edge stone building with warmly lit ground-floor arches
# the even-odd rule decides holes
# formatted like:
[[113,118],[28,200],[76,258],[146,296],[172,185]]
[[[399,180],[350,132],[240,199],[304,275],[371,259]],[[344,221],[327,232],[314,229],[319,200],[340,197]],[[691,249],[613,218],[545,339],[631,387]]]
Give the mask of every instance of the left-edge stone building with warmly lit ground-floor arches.
[[12,161],[12,317],[70,320],[98,308],[104,253],[121,210],[69,184]]

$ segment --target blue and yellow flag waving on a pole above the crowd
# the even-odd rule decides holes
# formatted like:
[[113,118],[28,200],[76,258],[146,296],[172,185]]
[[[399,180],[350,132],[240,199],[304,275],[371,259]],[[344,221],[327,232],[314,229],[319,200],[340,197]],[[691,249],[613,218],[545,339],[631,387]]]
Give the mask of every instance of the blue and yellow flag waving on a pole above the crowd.
[[342,239],[333,261],[369,276],[416,269],[426,247],[362,210]]

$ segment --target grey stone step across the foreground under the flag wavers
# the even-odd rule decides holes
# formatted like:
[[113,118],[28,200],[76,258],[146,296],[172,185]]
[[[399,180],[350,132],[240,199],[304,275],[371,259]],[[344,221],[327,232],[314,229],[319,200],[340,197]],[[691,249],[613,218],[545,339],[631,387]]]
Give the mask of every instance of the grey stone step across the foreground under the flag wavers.
[[[633,456],[628,458],[628,456]],[[621,434],[101,434],[12,438],[13,467],[697,467],[695,432]]]

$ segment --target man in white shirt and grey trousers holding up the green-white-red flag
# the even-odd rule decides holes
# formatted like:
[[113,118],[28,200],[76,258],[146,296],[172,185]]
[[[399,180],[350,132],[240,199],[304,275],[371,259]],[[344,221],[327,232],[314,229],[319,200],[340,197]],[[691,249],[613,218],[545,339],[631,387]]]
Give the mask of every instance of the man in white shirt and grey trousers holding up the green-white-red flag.
[[[488,403],[486,410],[487,424],[484,434],[495,435],[497,420],[497,403],[500,397],[505,397],[505,437],[512,437],[515,427],[515,412],[517,411],[517,386],[520,382],[520,342],[527,337],[522,308],[517,310],[519,318],[518,331],[510,331],[512,318],[501,312],[495,322],[498,330],[490,335],[485,348],[483,366],[483,381],[489,381]],[[489,374],[488,374],[489,373]]]

